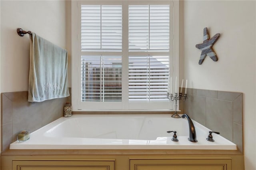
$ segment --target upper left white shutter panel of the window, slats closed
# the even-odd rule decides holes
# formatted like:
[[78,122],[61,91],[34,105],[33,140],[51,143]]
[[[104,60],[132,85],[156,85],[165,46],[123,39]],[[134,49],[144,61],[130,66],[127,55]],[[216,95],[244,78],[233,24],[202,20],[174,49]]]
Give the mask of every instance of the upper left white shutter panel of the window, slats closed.
[[122,6],[81,6],[82,51],[122,50]]

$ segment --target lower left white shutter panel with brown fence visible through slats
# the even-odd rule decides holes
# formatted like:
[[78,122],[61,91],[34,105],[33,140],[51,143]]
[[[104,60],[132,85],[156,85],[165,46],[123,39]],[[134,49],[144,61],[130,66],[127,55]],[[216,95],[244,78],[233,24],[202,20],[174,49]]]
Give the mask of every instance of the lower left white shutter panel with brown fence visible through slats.
[[122,57],[82,56],[81,100],[122,100]]

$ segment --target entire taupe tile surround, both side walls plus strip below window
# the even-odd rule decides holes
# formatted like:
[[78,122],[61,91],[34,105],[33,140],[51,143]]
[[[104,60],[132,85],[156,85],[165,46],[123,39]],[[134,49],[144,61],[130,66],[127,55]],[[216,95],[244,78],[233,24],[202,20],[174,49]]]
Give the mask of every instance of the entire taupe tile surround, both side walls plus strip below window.
[[[27,91],[2,93],[1,97],[2,150],[6,150],[9,144],[16,140],[16,134],[20,130],[34,131],[62,117],[64,104],[66,101],[71,102],[71,97],[67,97],[31,104],[27,101]],[[242,93],[188,89],[188,99],[180,103],[180,109],[181,113],[187,113],[195,121],[220,132],[222,136],[236,143],[239,151],[243,152],[242,99]],[[150,113],[156,114],[156,112]],[[120,112],[73,112],[73,114],[120,114]],[[122,114],[128,113],[122,112]],[[161,114],[170,114],[170,112],[161,112]]]

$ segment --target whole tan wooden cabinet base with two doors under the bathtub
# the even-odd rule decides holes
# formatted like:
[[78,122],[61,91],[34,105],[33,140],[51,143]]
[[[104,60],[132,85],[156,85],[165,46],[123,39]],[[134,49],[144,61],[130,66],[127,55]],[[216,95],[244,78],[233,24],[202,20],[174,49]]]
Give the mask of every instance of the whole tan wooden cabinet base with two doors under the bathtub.
[[243,154],[219,152],[222,154],[211,150],[8,150],[1,153],[1,170],[244,170]]

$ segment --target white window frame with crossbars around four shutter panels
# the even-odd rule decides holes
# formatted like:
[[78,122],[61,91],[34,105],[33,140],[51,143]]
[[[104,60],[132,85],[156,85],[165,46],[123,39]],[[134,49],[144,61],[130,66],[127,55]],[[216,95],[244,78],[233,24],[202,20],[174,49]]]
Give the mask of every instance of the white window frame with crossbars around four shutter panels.
[[[122,51],[81,51],[81,5],[122,5]],[[170,5],[170,50],[169,51],[128,51],[128,6],[129,5],[161,5],[161,4],[169,4]],[[122,74],[122,88],[126,89],[126,91],[122,90],[122,102],[101,102],[100,105],[103,109],[92,109],[92,107],[85,107],[86,109],[81,109],[81,94],[79,95],[79,89],[81,89],[80,80],[81,76],[79,74],[81,65],[80,57],[81,55],[121,55],[122,56],[122,73],[128,73],[128,64],[124,67],[124,63],[128,63],[129,54],[134,55],[169,55],[170,59],[170,77],[179,77],[179,2],[175,0],[73,0],[71,2],[72,9],[72,111],[170,111],[173,110],[173,102],[168,101],[168,108],[170,109],[152,109],[150,107],[150,103],[146,104],[147,109],[141,109],[142,103],[132,103],[130,105],[128,99],[128,74]],[[127,47],[127,48],[126,48]],[[104,54],[103,54],[104,53]],[[75,57],[78,56],[78,57]],[[179,82],[179,81],[178,81]],[[91,103],[91,102],[88,102]],[[96,102],[99,103],[99,102]],[[122,103],[122,104],[121,104]],[[92,103],[91,103],[92,104]],[[90,105],[91,105],[90,104]],[[115,108],[113,109],[113,105]],[[161,104],[158,103],[158,105]],[[165,104],[166,105],[166,104]],[[93,106],[93,105],[92,105]],[[132,107],[133,109],[130,109]]]

